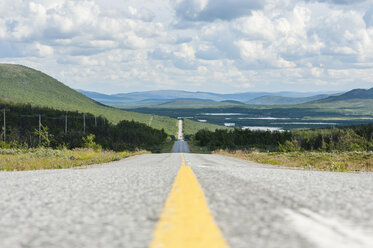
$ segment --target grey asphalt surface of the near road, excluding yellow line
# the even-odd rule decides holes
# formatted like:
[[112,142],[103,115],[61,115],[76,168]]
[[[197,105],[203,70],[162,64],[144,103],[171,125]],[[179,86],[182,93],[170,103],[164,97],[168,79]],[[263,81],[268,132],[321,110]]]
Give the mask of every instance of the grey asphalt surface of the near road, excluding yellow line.
[[[373,174],[185,154],[231,247],[373,247]],[[0,172],[0,247],[147,247],[180,154]]]

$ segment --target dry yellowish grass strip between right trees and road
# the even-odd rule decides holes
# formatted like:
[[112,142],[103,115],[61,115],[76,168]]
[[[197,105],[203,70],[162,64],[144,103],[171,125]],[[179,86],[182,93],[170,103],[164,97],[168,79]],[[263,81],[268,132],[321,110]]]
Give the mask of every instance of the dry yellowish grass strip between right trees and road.
[[258,152],[258,151],[213,151],[221,154],[286,167],[325,171],[373,171],[373,152]]

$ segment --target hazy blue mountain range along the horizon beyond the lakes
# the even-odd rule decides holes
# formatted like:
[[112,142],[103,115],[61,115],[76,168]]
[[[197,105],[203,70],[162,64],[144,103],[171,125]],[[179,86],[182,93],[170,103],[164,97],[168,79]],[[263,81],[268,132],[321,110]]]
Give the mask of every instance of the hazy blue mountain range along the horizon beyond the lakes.
[[[218,94],[211,92],[190,92],[181,90],[157,90],[145,92],[106,95],[97,92],[77,90],[100,103],[120,108],[131,107],[198,107],[228,105],[289,105],[300,104],[329,96],[337,92],[244,92],[236,94]],[[206,103],[209,101],[209,103]],[[203,103],[204,102],[204,103]]]

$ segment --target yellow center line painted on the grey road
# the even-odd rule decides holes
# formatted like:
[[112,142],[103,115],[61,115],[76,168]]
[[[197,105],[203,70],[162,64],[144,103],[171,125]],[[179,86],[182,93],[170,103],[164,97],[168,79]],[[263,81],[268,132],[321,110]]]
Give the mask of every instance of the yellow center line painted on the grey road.
[[228,247],[190,166],[180,170],[153,233],[150,248]]

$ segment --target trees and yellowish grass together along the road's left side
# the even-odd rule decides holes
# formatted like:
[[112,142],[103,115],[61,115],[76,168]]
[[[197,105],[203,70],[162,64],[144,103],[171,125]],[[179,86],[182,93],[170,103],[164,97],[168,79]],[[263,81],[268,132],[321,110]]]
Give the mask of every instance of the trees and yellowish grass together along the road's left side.
[[5,171],[106,163],[162,152],[172,142],[164,130],[135,121],[113,124],[102,116],[1,101],[0,109],[6,111],[5,130],[0,112],[0,170]]

